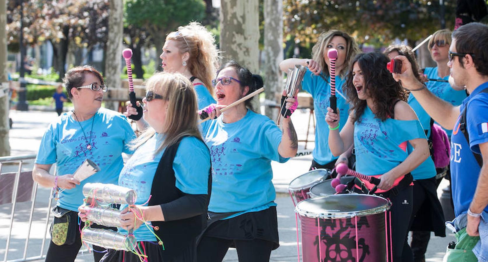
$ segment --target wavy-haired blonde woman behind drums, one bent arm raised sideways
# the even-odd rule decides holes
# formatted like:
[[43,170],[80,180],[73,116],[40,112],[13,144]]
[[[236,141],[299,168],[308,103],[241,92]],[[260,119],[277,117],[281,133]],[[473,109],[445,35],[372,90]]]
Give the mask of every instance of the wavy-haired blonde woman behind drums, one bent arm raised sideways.
[[[295,65],[308,67],[302,81],[302,88],[312,95],[313,109],[317,120],[315,126],[315,148],[312,153],[313,160],[310,170],[315,168],[332,169],[337,159],[329,150],[327,142],[329,130],[327,129],[327,123],[325,123],[325,114],[329,107],[330,98],[330,61],[327,52],[331,48],[335,48],[338,55],[335,62],[337,108],[342,113],[343,122],[341,126],[344,126],[349,105],[342,86],[352,58],[359,53],[354,38],[339,30],[324,32],[319,36],[317,44],[312,48],[312,59],[288,58],[280,63],[280,69],[283,72],[287,72],[288,68],[294,68]],[[342,158],[340,157],[340,159]]]

